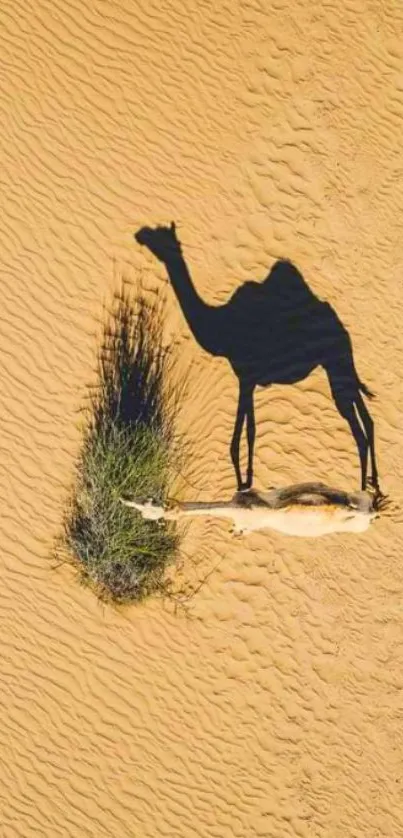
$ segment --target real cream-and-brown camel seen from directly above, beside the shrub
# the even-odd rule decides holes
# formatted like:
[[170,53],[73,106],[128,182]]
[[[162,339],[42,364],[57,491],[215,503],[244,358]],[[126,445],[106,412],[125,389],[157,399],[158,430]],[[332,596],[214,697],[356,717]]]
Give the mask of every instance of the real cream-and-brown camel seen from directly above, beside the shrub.
[[158,506],[121,498],[125,506],[153,521],[177,521],[194,515],[229,518],[233,533],[272,529],[285,535],[318,537],[336,532],[360,533],[368,529],[386,503],[367,492],[349,494],[323,483],[300,483],[268,492],[236,492],[230,501],[176,502]]

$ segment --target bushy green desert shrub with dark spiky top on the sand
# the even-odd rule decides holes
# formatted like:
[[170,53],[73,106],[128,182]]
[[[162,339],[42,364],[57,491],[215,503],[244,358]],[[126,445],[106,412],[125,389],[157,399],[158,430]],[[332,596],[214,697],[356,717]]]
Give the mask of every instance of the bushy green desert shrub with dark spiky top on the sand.
[[167,363],[158,305],[142,298],[134,305],[122,291],[104,332],[62,538],[102,599],[139,601],[166,591],[177,554],[172,524],[144,520],[120,501],[163,503],[178,468]]

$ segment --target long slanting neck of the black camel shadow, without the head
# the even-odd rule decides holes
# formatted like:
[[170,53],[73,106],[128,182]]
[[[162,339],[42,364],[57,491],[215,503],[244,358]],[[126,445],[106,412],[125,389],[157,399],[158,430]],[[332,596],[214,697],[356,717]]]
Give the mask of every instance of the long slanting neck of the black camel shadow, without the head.
[[186,322],[200,346],[212,355],[225,355],[221,308],[207,305],[199,297],[181,254],[170,256],[165,266]]

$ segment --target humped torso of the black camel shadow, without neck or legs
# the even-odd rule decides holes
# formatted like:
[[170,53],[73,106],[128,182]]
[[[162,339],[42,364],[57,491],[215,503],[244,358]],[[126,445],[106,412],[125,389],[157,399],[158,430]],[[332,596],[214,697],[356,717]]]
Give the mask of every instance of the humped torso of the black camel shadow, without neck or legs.
[[222,307],[225,355],[251,384],[292,384],[332,355],[351,363],[348,334],[331,306],[283,259],[263,282],[245,282]]

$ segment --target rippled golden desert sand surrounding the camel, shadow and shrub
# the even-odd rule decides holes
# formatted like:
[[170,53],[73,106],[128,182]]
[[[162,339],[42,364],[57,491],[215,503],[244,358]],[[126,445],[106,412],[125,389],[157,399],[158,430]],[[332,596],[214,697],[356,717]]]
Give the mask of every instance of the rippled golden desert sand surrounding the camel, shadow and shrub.
[[[0,21],[1,836],[398,838],[401,3],[5,0]],[[287,258],[337,311],[395,502],[323,539],[198,519],[187,616],[100,605],[49,558],[122,278],[164,298],[185,496],[236,488],[236,379],[133,238],[171,220],[207,302]],[[255,401],[256,486],[359,488],[321,369]]]

